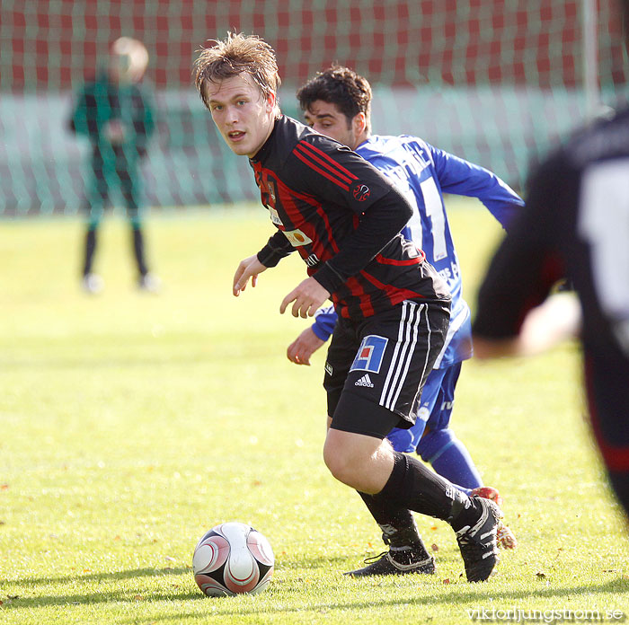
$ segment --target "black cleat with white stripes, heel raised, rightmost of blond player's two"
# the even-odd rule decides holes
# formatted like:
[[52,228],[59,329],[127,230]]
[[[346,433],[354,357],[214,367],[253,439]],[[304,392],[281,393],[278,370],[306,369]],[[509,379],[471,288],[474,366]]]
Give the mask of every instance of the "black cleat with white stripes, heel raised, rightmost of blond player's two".
[[465,525],[456,533],[468,582],[483,582],[492,575],[498,563],[496,533],[502,516],[501,509],[490,499],[471,497],[482,513],[478,521]]

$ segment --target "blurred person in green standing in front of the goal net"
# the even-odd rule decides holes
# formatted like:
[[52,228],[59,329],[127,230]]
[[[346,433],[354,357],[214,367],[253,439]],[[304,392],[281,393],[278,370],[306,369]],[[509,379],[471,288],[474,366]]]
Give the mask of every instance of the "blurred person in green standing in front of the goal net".
[[142,197],[141,159],[155,130],[152,95],[141,84],[148,52],[141,41],[120,37],[111,45],[106,68],[84,84],[77,94],[70,122],[77,135],[92,144],[90,172],[85,184],[88,225],[84,242],[82,285],[88,293],[102,290],[102,277],[93,273],[98,226],[111,189],[120,189],[131,224],[137,262],[137,285],[158,290],[159,278],[146,265],[140,223]]

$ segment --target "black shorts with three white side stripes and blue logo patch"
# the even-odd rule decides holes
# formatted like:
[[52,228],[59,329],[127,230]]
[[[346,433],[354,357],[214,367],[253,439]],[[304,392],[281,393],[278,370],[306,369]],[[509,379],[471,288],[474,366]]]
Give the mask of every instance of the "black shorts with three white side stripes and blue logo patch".
[[377,438],[411,427],[449,318],[447,302],[418,300],[361,321],[340,316],[323,380],[331,427]]

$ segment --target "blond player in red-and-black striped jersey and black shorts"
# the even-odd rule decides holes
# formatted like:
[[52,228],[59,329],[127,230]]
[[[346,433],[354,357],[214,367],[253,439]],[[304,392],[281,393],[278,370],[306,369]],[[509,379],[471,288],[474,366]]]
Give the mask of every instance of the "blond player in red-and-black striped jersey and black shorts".
[[339,314],[327,372],[337,376],[328,387],[329,470],[389,517],[414,510],[446,520],[468,580],[486,579],[496,563],[498,506],[384,441],[393,427],[412,425],[449,321],[447,285],[399,234],[412,207],[358,154],[282,115],[275,53],[263,40],[230,34],[202,50],[195,82],[226,144],[249,157],[278,229],[241,261],[234,295],[297,250],[309,277],[280,312],[291,306],[306,318],[330,298]]

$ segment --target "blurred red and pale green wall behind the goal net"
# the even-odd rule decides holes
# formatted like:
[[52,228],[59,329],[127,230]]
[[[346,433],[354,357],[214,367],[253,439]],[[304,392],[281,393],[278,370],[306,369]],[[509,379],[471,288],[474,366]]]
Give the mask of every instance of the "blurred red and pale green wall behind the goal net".
[[557,136],[626,101],[611,0],[3,0],[0,216],[79,211],[89,147],[68,129],[73,95],[120,35],[150,54],[148,204],[256,198],[191,84],[196,50],[228,30],[275,48],[284,112],[299,115],[309,76],[348,65],[374,87],[375,132],[422,136],[517,188]]

